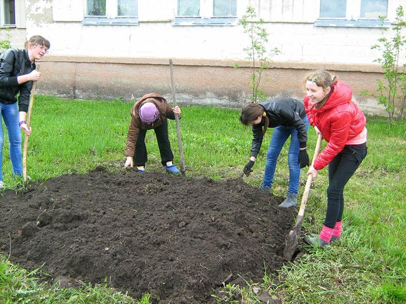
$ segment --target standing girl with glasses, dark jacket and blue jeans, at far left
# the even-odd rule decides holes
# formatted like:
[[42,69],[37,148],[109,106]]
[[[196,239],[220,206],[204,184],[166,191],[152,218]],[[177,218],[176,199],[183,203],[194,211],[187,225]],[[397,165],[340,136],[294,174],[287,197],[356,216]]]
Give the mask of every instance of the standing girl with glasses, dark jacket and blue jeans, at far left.
[[[50,43],[42,36],[32,36],[25,42],[24,50],[9,49],[0,58],[0,114],[7,128],[10,140],[10,159],[13,175],[22,175],[21,132],[30,135],[25,122],[32,82],[40,79],[35,61],[47,53]],[[18,106],[17,106],[17,95]],[[0,189],[3,181],[4,132],[0,121]]]

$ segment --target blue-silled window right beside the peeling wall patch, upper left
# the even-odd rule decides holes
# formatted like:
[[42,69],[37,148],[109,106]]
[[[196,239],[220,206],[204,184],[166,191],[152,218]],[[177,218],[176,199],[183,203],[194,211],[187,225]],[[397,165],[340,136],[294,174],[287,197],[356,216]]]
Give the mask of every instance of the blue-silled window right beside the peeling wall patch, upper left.
[[86,0],[83,24],[138,24],[138,0]]

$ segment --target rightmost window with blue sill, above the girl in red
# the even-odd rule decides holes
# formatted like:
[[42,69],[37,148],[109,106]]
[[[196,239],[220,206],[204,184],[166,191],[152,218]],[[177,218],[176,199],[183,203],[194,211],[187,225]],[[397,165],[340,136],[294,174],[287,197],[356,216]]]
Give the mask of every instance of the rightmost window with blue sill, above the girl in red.
[[[381,27],[379,16],[387,16],[388,0],[320,0],[316,26]],[[384,22],[383,26],[388,26]]]

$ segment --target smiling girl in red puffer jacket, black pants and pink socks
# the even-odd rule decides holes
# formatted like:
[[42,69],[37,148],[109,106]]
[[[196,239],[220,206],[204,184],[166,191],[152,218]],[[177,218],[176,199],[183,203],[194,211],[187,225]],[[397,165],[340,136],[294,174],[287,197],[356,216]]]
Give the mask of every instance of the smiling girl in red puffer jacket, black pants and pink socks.
[[309,123],[328,142],[308,175],[328,165],[327,212],[319,235],[304,238],[323,247],[341,236],[344,186],[366,156],[366,119],[352,99],[352,90],[326,70],[312,72],[306,78],[303,103]]

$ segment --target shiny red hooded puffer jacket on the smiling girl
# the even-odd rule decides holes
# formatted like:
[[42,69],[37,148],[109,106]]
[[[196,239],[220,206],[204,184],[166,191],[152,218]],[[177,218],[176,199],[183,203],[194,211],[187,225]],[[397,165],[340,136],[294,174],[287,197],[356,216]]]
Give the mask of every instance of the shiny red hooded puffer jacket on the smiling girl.
[[303,98],[309,123],[313,127],[317,126],[328,142],[314,162],[316,170],[323,169],[331,162],[346,142],[360,134],[365,127],[364,113],[351,99],[351,88],[341,81],[334,84],[333,92],[319,109],[312,105],[308,96]]

